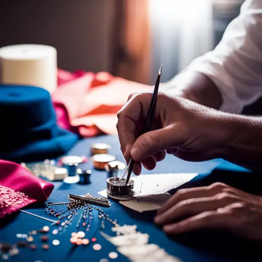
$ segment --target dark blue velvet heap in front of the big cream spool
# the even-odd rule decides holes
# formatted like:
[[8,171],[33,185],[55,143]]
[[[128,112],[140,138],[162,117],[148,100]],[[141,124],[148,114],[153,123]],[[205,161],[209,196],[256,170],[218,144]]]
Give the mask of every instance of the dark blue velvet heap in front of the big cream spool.
[[57,126],[48,91],[35,86],[0,85],[0,159],[36,161],[65,154],[77,135]]

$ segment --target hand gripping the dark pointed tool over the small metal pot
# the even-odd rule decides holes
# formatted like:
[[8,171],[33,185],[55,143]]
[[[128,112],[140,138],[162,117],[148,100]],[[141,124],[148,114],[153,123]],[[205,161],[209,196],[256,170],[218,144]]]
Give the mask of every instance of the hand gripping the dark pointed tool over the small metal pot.
[[141,163],[149,170],[165,153],[187,161],[204,161],[223,156],[227,138],[222,112],[187,99],[159,93],[151,131],[140,136],[152,92],[132,94],[118,113],[117,130],[121,150],[133,172],[140,174]]

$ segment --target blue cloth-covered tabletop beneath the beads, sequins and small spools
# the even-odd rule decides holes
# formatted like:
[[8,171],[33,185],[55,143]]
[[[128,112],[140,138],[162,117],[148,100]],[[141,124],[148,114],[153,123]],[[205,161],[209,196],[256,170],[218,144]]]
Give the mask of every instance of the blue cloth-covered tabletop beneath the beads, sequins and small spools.
[[[115,136],[102,136],[80,141],[70,152],[69,155],[79,155],[90,157],[90,145],[94,142],[105,142],[112,146],[110,151],[117,157],[117,160],[123,161],[120,151],[118,138]],[[91,184],[64,184],[55,182],[49,201],[63,202],[67,201],[69,193],[85,194],[91,193],[98,196],[97,192],[106,187],[106,172],[93,169],[92,161],[81,164],[82,167],[92,169]],[[215,168],[215,170],[213,170]],[[212,171],[213,170],[213,171]],[[256,193],[261,185],[259,175],[248,172],[247,170],[227,163],[223,160],[212,160],[202,163],[190,163],[167,156],[166,159],[158,163],[153,171],[142,170],[142,173],[168,173],[168,172],[198,172],[201,175],[185,186],[207,185],[215,181],[222,181],[235,187],[245,189],[249,192]],[[209,174],[211,172],[211,174]],[[207,175],[209,174],[209,175]],[[44,207],[27,208],[28,211],[54,219],[53,216],[44,212]],[[112,217],[117,219],[120,225],[137,225],[138,231],[149,234],[149,242],[159,245],[171,255],[180,258],[182,261],[253,261],[255,260],[258,248],[254,244],[247,243],[231,236],[226,232],[208,231],[184,234],[170,238],[153,223],[155,212],[138,213],[125,208],[117,202],[112,201],[110,208],[103,208]],[[94,223],[98,223],[98,218],[94,217]],[[37,217],[18,212],[15,215],[7,217],[1,221],[1,241],[16,243],[17,233],[28,233],[31,230],[37,230],[43,226],[50,225],[50,222],[43,221]],[[72,225],[73,227],[74,225]],[[116,251],[116,248],[107,242],[97,232],[97,243],[102,246],[100,251],[95,251],[92,245],[73,247],[70,243],[70,234],[73,230],[70,226],[63,234],[50,236],[50,249],[43,251],[39,241],[39,235],[35,236],[35,244],[38,249],[35,251],[20,248],[17,256],[10,258],[10,261],[27,261],[33,262],[40,260],[43,262],[50,261],[100,261],[107,258],[110,261],[128,261],[127,258],[119,254],[118,258],[108,258],[108,253]],[[53,246],[52,240],[59,239],[60,245]],[[248,249],[252,248],[248,252]],[[259,259],[257,259],[259,260]]]

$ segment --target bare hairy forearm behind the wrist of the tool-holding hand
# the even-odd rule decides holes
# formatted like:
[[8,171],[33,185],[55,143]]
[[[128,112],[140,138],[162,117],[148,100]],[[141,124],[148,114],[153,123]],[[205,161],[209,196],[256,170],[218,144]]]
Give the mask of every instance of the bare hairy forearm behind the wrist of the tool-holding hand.
[[262,117],[226,114],[223,158],[251,170],[262,170]]

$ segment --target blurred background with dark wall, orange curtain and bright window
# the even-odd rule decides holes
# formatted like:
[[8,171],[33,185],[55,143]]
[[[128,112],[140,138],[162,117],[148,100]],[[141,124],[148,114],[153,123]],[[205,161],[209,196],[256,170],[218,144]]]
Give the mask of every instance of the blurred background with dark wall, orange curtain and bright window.
[[212,50],[244,0],[0,1],[0,47],[57,49],[58,68],[152,84]]

